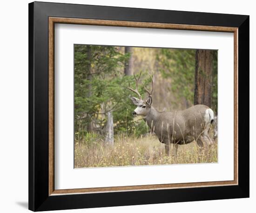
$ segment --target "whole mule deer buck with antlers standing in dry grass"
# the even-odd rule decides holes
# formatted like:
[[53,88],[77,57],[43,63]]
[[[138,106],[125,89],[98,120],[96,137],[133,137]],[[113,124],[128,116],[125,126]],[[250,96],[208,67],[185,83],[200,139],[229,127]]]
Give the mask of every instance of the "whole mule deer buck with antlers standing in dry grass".
[[[165,153],[169,155],[170,144],[174,144],[175,156],[179,145],[188,144],[192,141],[196,141],[198,146],[203,147],[206,143],[211,145],[213,142],[209,137],[209,128],[214,120],[214,113],[212,109],[205,105],[195,105],[186,110],[174,111],[174,112],[158,112],[152,106],[152,93],[154,89],[155,76],[153,78],[149,74],[152,82],[151,91],[149,91],[145,85],[144,89],[148,93],[146,100],[142,100],[141,94],[138,92],[138,84],[141,77],[135,78],[136,88],[133,89],[127,87],[132,92],[138,95],[138,98],[129,98],[137,106],[133,112],[134,116],[141,115],[143,120],[151,129],[151,132],[155,132],[159,141],[165,145]],[[142,82],[143,83],[143,82]]]

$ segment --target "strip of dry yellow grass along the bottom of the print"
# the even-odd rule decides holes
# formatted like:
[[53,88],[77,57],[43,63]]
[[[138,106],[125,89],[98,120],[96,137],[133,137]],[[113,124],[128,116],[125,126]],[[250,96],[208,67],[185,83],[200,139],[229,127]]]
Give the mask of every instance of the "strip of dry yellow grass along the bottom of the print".
[[[180,145],[175,159],[172,155],[165,155],[164,145],[155,135],[141,138],[118,136],[113,146],[104,144],[100,139],[93,139],[89,143],[76,140],[74,148],[75,168],[212,163],[217,162],[218,150],[217,142],[199,150],[194,141]],[[171,146],[171,152],[172,149]]]

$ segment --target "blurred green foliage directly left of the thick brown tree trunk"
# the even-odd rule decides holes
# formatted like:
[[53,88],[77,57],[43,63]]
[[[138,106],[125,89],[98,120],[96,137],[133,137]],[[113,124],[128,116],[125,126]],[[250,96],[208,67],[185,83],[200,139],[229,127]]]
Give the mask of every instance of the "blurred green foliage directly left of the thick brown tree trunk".
[[157,55],[159,70],[164,78],[171,78],[171,89],[177,98],[194,101],[195,50],[161,49]]

